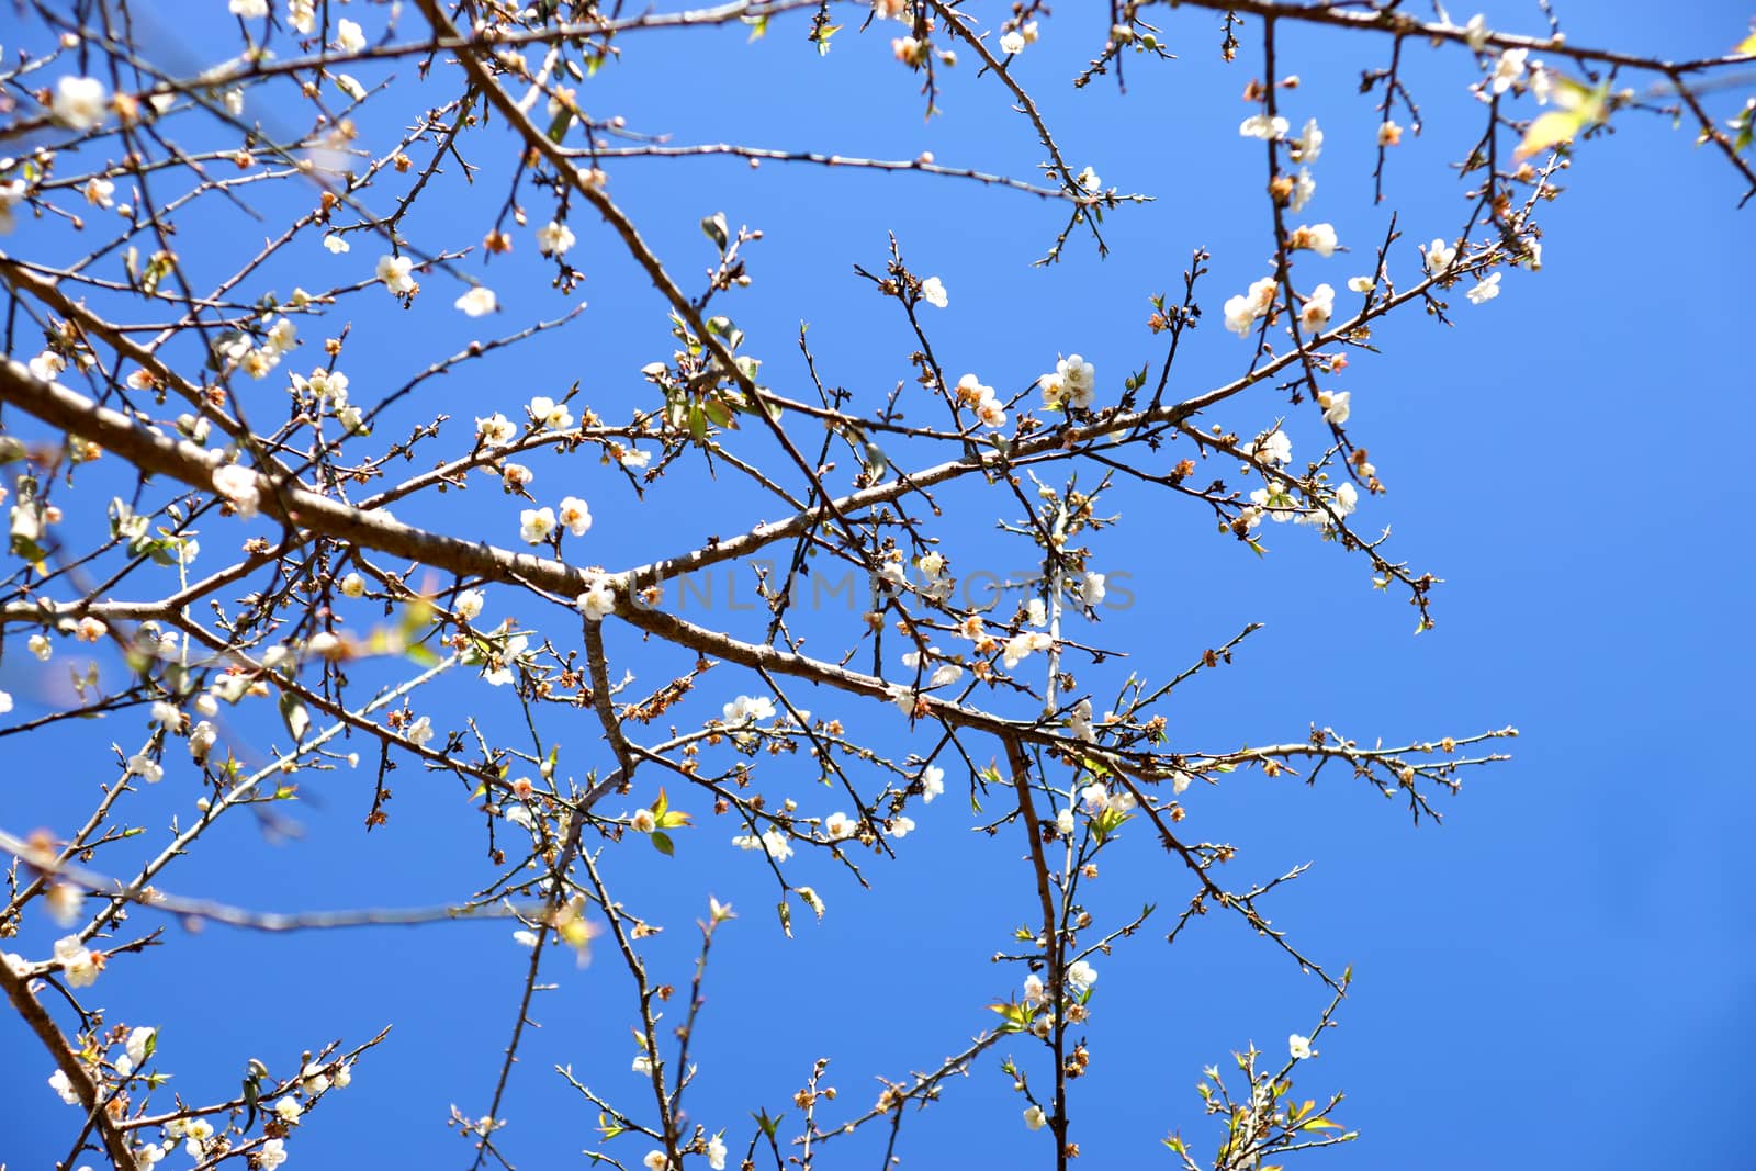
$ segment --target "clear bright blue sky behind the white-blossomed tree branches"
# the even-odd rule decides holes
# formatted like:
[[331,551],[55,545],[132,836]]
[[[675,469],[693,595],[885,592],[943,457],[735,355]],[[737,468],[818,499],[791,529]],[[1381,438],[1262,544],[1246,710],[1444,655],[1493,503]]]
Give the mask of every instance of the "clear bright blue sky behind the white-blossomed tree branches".
[[[383,19],[367,12],[363,19]],[[1247,33],[1241,60],[1222,65],[1212,14],[1162,16],[1180,60],[1131,61],[1126,98],[1101,81],[1080,93],[1066,86],[1099,35],[1071,5],[1045,21],[1043,40],[1020,61],[1075,165],[1157,197],[1106,218],[1106,260],[1075,239],[1062,263],[1033,269],[1059,212],[1033,197],[917,176],[629,162],[611,169],[613,191],[657,253],[690,277],[711,262],[701,216],[723,211],[734,225],[760,226],[764,239],[750,251],[755,284],[725,311],[766,356],[764,376],[783,388],[802,386],[795,334],[808,320],[827,381],[866,404],[908,376],[901,320],[850,269],[882,267],[889,232],[917,272],[939,274],[950,290],[950,307],[932,318],[946,365],[980,370],[1001,388],[1022,388],[1057,351],[1080,351],[1113,390],[1122,370],[1161,353],[1145,330],[1147,297],[1178,288],[1191,249],[1205,246],[1213,255],[1208,318],[1173,376],[1173,388],[1192,393],[1247,362],[1247,344],[1219,327],[1219,304],[1266,272],[1271,253],[1257,198],[1261,151],[1236,135],[1249,112],[1238,95],[1259,74],[1259,49]],[[1617,2],[1568,5],[1561,16],[1575,42],[1700,56],[1737,40],[1749,11],[1696,4],[1658,21],[1649,5]],[[1540,28],[1535,5],[1496,5],[1489,23]],[[204,60],[221,54],[209,35],[225,33],[204,30],[190,47]],[[943,116],[924,123],[887,37],[860,39],[850,28],[818,60],[801,21],[776,21],[755,44],[738,32],[667,33],[629,39],[625,51],[620,67],[583,91],[590,109],[623,112],[630,126],[683,142],[899,158],[931,149],[943,163],[1017,176],[1038,160],[1027,125],[973,70],[952,79]],[[1366,242],[1382,239],[1391,212],[1405,230],[1391,265],[1408,276],[1419,265],[1415,244],[1454,235],[1466,211],[1447,163],[1475,133],[1479,107],[1465,91],[1475,74],[1466,54],[1424,46],[1408,46],[1407,58],[1428,128],[1393,153],[1387,198],[1373,207],[1371,114],[1356,90],[1359,68],[1382,63],[1382,51],[1377,40],[1333,33],[1287,32],[1282,44],[1282,70],[1301,75],[1284,97],[1289,116],[1317,116],[1329,135],[1306,214],[1331,219],[1357,246],[1322,262],[1321,279],[1338,288],[1370,269]],[[1740,104],[1731,95],[1716,102],[1723,114]],[[393,125],[392,116],[365,121],[369,135]],[[1480,307],[1459,291],[1456,328],[1393,318],[1375,330],[1384,353],[1361,355],[1347,374],[1350,432],[1391,488],[1363,506],[1363,521],[1391,527],[1394,557],[1445,579],[1436,630],[1414,637],[1412,609],[1371,590],[1363,562],[1305,528],[1271,528],[1271,553],[1256,558],[1217,537],[1192,507],[1117,490],[1106,511],[1122,513],[1122,523],[1092,542],[1105,565],[1131,574],[1134,606],[1108,613],[1101,629],[1106,644],[1129,651],[1131,667],[1162,678],[1247,621],[1264,623],[1234,665],[1178,692],[1166,715],[1180,746],[1298,739],[1310,723],[1387,743],[1508,723],[1522,732],[1510,764],[1468,776],[1463,794],[1442,802],[1442,827],[1415,830],[1400,806],[1333,771],[1315,788],[1240,774],[1189,797],[1192,832],[1240,848],[1233,881],[1313,864],[1271,906],[1275,925],[1326,966],[1354,966],[1342,1027],[1324,1036],[1319,1060],[1301,1066],[1298,1085],[1299,1097],[1345,1088],[1338,1117],[1363,1138],[1313,1162],[1443,1169],[1747,1159],[1726,1104],[1751,1088],[1738,1038],[1756,1027],[1756,930],[1738,890],[1756,797],[1738,734],[1747,720],[1737,716],[1751,653],[1742,607],[1752,534],[1740,507],[1733,409],[1751,386],[1737,348],[1749,325],[1737,269],[1749,212],[1735,209],[1737,177],[1688,132],[1637,116],[1619,118],[1616,130],[1579,151],[1565,195],[1540,218],[1540,274],[1508,272],[1503,293]],[[409,219],[416,244],[479,239],[504,198],[495,177],[506,160],[486,153],[481,162],[486,177],[474,188],[451,183]],[[602,228],[579,219],[576,228],[588,274],[579,295],[590,309],[511,356],[430,386],[381,434],[435,411],[465,427],[471,413],[513,414],[532,393],[576,377],[581,400],[604,414],[644,404],[636,372],[669,353],[662,305]],[[188,242],[190,255],[218,272],[262,232],[241,218],[216,219],[211,239]],[[486,269],[479,256],[464,262],[499,290],[506,313],[497,327],[571,305],[548,290],[527,237]],[[5,246],[28,251],[30,239],[26,228]],[[299,283],[362,279],[374,255],[356,246],[332,258],[313,237],[265,281],[284,293]],[[395,386],[435,346],[460,344],[451,284],[441,276],[427,283],[409,314],[371,300],[344,307],[355,330],[344,365],[356,393]],[[1284,409],[1257,392],[1215,420],[1261,428]],[[1301,437],[1317,442],[1312,414],[1289,430],[1296,449]],[[558,462],[539,465],[555,495],[576,490],[562,483],[567,474]],[[773,518],[741,486],[697,472],[667,479],[644,502],[595,463],[576,474],[597,514],[590,557],[606,565]],[[1010,569],[1008,546],[992,534],[996,516],[1010,516],[1001,507],[985,493],[950,493],[939,532],[971,560]],[[476,488],[399,507],[399,516],[511,544],[516,509]],[[237,521],[214,521],[211,539],[232,548],[244,535]],[[504,593],[490,593],[490,607],[557,637],[576,625]],[[715,613],[722,618],[736,621]],[[831,618],[813,620],[825,646],[846,627]],[[636,669],[669,667],[655,653],[646,667],[650,651],[627,630],[611,632],[611,651]],[[26,655],[9,653],[0,672],[26,715],[32,669]],[[716,671],[678,720],[706,718],[755,686]],[[827,697],[811,702],[827,711]],[[465,708],[486,720],[513,715],[474,686],[430,700],[435,723]],[[864,713],[871,734],[899,751],[903,729],[890,716]],[[95,741],[139,737],[135,716],[112,723],[126,727],[5,741],[0,825],[65,829],[83,815],[109,776]],[[590,722],[564,739],[579,772],[602,767]],[[193,799],[193,783],[167,778],[132,816],[156,832]],[[455,899],[492,873],[479,815],[455,781],[404,769],[392,822],[371,837],[360,832],[365,771],[304,783],[299,836],[235,825],[165,885],[262,909],[409,906]],[[797,779],[801,790],[810,783]],[[785,788],[778,778],[773,785]],[[822,871],[802,881],[824,892],[829,915],[790,941],[774,925],[760,867],[725,844],[732,830],[722,832],[704,809],[697,820],[708,825],[680,837],[676,858],[615,855],[630,902],[667,925],[648,950],[658,978],[687,981],[690,923],[709,892],[741,913],[716,941],[690,1104],[692,1118],[727,1127],[734,1152],[748,1139],[748,1111],[785,1110],[795,1120],[788,1099],[813,1059],[832,1059],[827,1081],[841,1090],[845,1113],[859,1113],[876,1096],[874,1074],[901,1078],[955,1052],[990,1024],[983,1006],[1015,988],[1017,973],[989,957],[1031,915],[1029,867],[1015,836],[971,832],[980,818],[955,795],[954,785],[952,799],[917,813],[920,830],[896,864],[867,867],[871,890],[795,858],[790,866]],[[1313,978],[1217,915],[1166,948],[1164,929],[1192,894],[1189,883],[1145,836],[1124,846],[1105,858],[1094,913],[1122,922],[1141,901],[1159,911],[1099,966],[1092,1073],[1076,1083],[1073,1125],[1085,1166],[1169,1166],[1157,1139],[1171,1129],[1198,1152],[1213,1145],[1194,1094],[1201,1067],[1226,1066],[1252,1039],[1278,1052],[1326,997]],[[149,918],[139,915],[135,925]],[[7,946],[35,957],[54,934],[39,918]],[[504,925],[265,938],[220,927],[186,934],[172,923],[169,943],[149,962],[118,964],[93,992],[112,1020],[162,1027],[160,1060],[176,1071],[176,1088],[193,1099],[227,1094],[251,1057],[284,1069],[302,1048],[358,1043],[393,1024],[355,1085],[327,1097],[288,1143],[293,1167],[467,1166],[444,1118],[451,1104],[469,1115],[486,1110],[527,960]],[[557,960],[551,973],[557,988],[539,995],[534,1013],[543,1029],[502,1111],[511,1120],[502,1141],[520,1167],[588,1166],[579,1152],[595,1148],[595,1110],[581,1110],[553,1066],[572,1064],[594,1088],[641,1101],[629,1071],[630,997],[615,957],[604,952],[583,969]],[[0,1018],[0,1052],[19,1055],[0,1062],[0,1162],[47,1166],[65,1152],[72,1111],[44,1087],[49,1066],[12,1020]],[[1022,1045],[1001,1052],[1038,1060]],[[903,1166],[1047,1160],[1047,1132],[1026,1132],[1020,1108],[997,1057],[983,1059],[941,1104],[910,1117]],[[864,1143],[860,1160],[878,1159],[864,1138],[853,1143]],[[637,1166],[643,1150],[611,1153]],[[167,1166],[184,1160],[172,1159]],[[836,1148],[824,1159],[818,1166],[848,1160]]]

